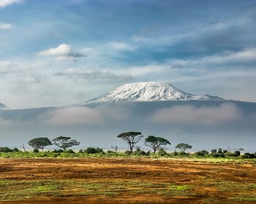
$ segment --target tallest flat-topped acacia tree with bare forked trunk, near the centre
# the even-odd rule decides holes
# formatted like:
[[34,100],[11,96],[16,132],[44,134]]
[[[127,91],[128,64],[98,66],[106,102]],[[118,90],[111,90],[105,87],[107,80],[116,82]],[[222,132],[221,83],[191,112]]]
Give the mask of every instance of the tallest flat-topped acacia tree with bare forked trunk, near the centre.
[[127,132],[127,133],[121,133],[117,136],[118,138],[122,138],[129,147],[129,152],[133,152],[133,148],[135,147],[135,144],[140,141],[143,136],[141,136],[140,132]]

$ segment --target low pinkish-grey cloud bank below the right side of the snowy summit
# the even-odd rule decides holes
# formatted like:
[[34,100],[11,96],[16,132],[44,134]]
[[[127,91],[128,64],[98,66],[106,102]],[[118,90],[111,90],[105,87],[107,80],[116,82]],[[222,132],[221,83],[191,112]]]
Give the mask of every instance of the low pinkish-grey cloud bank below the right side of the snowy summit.
[[221,106],[200,107],[173,106],[160,109],[149,119],[151,122],[178,123],[191,125],[219,125],[235,122],[243,117],[238,107],[232,103],[224,103]]

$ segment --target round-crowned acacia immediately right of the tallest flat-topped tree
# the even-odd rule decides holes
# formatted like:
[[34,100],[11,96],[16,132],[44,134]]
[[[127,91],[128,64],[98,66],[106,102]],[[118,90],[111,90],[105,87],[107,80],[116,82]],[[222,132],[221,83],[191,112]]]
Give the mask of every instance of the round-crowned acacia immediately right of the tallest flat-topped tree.
[[155,136],[148,136],[144,142],[144,145],[153,149],[154,154],[157,152],[157,150],[164,149],[163,146],[166,146],[167,144],[170,144],[170,141],[167,141],[165,138]]

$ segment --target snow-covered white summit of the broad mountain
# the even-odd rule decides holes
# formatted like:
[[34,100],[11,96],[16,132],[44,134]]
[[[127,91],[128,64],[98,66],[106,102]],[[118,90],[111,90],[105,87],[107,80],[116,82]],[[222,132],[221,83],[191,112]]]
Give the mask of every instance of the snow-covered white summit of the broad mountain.
[[151,101],[221,101],[223,98],[211,95],[193,95],[185,93],[173,85],[162,82],[138,82],[122,85],[99,98],[80,103],[80,105],[97,105],[121,102]]

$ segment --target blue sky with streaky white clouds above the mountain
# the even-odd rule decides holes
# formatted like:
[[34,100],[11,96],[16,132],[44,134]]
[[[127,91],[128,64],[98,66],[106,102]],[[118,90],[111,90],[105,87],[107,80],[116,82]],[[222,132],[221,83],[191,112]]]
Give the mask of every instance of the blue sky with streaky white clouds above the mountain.
[[255,0],[0,0],[0,102],[68,106],[145,81],[256,102],[255,24]]

